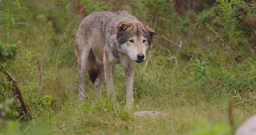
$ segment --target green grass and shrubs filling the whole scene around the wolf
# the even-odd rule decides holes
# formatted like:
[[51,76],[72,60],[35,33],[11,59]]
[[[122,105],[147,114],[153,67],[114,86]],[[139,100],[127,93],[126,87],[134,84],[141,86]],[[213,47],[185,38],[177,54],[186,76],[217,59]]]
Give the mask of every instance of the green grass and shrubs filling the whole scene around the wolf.
[[[7,93],[11,84],[0,72],[0,134],[233,134],[255,114],[254,1],[205,0],[189,5],[174,0],[81,0],[79,5],[69,0],[23,0],[19,5],[17,9],[10,6],[15,8],[8,12],[13,19],[6,19],[5,7],[0,7],[0,66],[17,79],[33,119],[18,116],[17,100]],[[155,28],[158,36],[176,43],[182,40],[181,52],[177,55],[173,44],[154,38],[148,59],[136,68],[132,109],[124,107],[120,65],[115,67],[117,103],[107,98],[105,84],[98,101],[87,78],[87,92],[95,104],[78,105],[74,85],[79,82],[74,52],[77,28],[90,13],[115,10],[130,11]],[[162,62],[170,57],[166,49],[177,58],[178,66],[173,60]],[[196,59],[205,62],[198,64]],[[194,75],[189,64],[199,72]],[[202,73],[246,92],[209,81]],[[158,110],[165,116],[145,119],[133,115],[143,110]],[[232,126],[229,117],[234,120]]]

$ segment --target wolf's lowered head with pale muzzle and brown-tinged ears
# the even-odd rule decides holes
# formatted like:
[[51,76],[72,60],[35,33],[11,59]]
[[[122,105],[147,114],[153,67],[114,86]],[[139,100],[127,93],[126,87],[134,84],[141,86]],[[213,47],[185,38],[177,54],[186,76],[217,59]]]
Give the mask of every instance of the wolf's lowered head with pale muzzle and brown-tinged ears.
[[139,22],[121,22],[116,26],[119,51],[127,54],[137,63],[146,59],[146,52],[150,50],[152,36],[157,33]]

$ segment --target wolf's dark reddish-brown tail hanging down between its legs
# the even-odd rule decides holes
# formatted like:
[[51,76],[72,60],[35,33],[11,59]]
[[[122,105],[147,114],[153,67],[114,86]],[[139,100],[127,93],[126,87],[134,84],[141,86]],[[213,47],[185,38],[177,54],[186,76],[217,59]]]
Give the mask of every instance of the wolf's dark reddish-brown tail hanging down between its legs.
[[89,60],[88,62],[89,77],[90,77],[90,80],[94,83],[99,75],[99,64],[97,63],[96,57],[92,50],[90,52],[88,60]]

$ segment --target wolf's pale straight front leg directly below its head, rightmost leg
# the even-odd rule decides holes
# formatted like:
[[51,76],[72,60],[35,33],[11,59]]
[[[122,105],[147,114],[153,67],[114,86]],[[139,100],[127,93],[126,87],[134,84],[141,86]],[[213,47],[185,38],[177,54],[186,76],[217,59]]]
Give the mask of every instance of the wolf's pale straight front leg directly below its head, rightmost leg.
[[125,68],[125,84],[126,84],[126,108],[131,108],[133,105],[133,80],[135,74],[135,66]]

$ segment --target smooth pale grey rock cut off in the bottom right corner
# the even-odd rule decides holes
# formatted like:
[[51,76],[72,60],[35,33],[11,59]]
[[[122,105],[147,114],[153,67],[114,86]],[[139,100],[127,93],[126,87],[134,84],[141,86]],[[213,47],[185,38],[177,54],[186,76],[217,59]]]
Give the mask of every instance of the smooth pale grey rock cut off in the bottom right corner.
[[256,115],[246,120],[234,135],[255,135],[256,134]]

